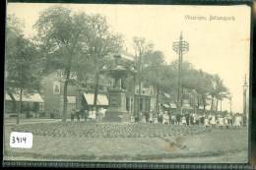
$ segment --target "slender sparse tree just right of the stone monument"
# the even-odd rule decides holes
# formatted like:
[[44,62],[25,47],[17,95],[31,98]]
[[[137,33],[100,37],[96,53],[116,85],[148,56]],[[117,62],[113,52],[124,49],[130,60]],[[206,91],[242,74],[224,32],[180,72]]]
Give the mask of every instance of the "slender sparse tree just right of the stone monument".
[[139,84],[139,98],[138,98],[138,106],[139,112],[141,111],[141,92],[142,92],[142,71],[145,67],[143,60],[147,52],[151,51],[154,47],[152,42],[146,40],[145,37],[133,37],[133,46],[135,52],[135,67],[137,68],[137,80]]

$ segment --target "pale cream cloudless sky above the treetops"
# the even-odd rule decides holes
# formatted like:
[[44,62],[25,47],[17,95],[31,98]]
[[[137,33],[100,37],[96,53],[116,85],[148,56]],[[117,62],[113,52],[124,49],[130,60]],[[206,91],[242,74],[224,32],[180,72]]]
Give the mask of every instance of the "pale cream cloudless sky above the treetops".
[[[39,12],[56,4],[9,3],[7,14],[15,14],[25,23],[24,32],[30,37]],[[101,14],[110,30],[124,35],[125,47],[132,51],[132,38],[145,36],[164,54],[166,63],[178,58],[172,43],[183,40],[189,51],[183,61],[195,69],[218,74],[232,94],[232,112],[242,113],[244,77],[249,82],[250,65],[250,7],[249,6],[181,6],[181,5],[96,5],[66,4],[74,12]],[[227,17],[233,20],[211,20]],[[196,19],[189,20],[188,18]],[[226,19],[227,19],[226,18]],[[206,20],[198,20],[206,19]],[[248,96],[248,92],[247,92]],[[248,103],[248,102],[247,102]],[[220,105],[219,105],[220,106]],[[230,110],[229,101],[223,101],[223,110]]]

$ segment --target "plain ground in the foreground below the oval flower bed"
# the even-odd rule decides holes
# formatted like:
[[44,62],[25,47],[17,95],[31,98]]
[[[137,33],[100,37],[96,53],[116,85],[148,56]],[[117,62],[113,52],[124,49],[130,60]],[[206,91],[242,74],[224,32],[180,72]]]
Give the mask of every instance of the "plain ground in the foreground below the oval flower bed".
[[214,129],[199,135],[180,134],[172,137],[85,138],[35,135],[32,148],[29,149],[10,147],[10,131],[11,127],[5,130],[5,160],[247,162],[246,128]]

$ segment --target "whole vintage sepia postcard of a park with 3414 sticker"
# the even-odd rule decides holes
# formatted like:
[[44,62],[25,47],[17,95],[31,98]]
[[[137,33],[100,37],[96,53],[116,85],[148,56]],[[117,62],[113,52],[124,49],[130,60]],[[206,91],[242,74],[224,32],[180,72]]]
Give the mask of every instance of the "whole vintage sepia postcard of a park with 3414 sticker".
[[3,161],[248,163],[250,39],[248,5],[8,3]]

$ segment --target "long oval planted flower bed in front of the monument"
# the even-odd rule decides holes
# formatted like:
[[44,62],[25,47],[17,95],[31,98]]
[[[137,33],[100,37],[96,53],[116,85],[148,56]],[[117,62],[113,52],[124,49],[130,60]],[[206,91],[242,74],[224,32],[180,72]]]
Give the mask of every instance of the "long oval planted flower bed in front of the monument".
[[200,135],[210,132],[211,129],[162,124],[59,122],[14,126],[12,131],[32,133],[35,136],[67,138],[165,138]]

